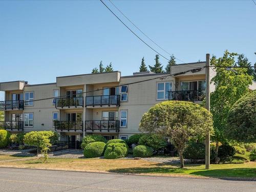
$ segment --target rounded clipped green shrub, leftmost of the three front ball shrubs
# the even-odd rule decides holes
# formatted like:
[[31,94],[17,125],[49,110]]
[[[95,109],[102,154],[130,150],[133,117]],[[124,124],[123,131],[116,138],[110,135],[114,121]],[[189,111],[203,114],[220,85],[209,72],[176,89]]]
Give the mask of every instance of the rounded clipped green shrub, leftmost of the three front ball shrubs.
[[83,150],[84,157],[87,158],[93,158],[93,157],[101,157],[104,153],[105,148],[104,142],[93,142],[86,145],[86,147]]

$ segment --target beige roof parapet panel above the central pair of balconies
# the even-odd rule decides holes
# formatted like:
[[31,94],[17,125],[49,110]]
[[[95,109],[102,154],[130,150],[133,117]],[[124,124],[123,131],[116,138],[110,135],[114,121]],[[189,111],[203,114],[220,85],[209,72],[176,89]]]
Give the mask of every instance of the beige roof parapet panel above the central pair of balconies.
[[98,73],[98,74],[57,77],[57,86],[66,87],[66,86],[77,86],[82,84],[118,82],[120,78],[119,73],[120,72],[115,71],[111,73]]

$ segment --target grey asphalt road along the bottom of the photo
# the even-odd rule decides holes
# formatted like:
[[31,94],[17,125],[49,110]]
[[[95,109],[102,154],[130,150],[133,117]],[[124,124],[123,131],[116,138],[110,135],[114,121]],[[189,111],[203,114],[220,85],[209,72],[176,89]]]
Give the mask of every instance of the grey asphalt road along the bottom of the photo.
[[0,168],[0,191],[256,191],[256,181]]

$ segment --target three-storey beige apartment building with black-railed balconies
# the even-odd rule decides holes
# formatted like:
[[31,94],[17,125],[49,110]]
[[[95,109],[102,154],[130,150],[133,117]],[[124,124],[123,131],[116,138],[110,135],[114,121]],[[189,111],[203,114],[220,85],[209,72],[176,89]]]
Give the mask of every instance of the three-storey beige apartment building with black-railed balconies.
[[[173,66],[172,74],[203,66],[205,62]],[[5,112],[5,121],[0,122],[0,128],[12,133],[56,131],[61,141],[80,141],[90,134],[127,139],[140,133],[142,115],[156,103],[200,102],[204,98],[205,69],[166,75],[143,72],[121,76],[121,72],[114,71],[60,76],[56,82],[44,84],[1,82],[5,101],[0,102],[0,110]],[[210,78],[214,75],[210,69]],[[214,89],[211,84],[210,91]]]

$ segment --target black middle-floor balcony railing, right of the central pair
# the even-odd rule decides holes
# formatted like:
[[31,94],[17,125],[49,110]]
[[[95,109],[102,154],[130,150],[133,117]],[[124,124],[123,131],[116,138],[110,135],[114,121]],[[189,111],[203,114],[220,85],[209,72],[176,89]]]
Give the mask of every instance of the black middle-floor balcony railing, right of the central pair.
[[115,131],[119,132],[119,120],[86,121],[86,131]]

